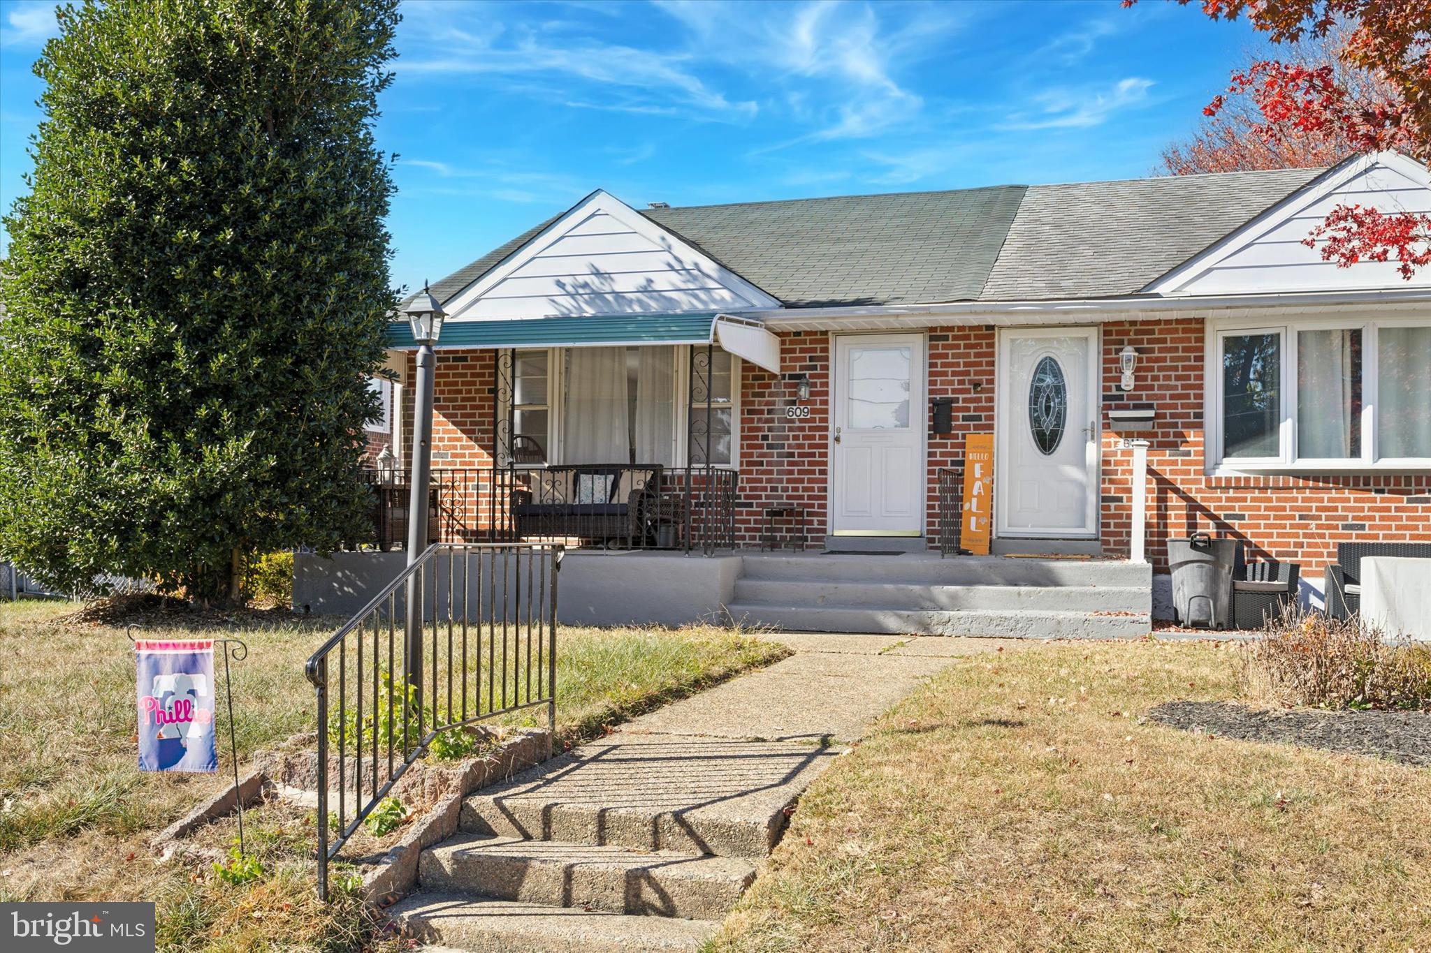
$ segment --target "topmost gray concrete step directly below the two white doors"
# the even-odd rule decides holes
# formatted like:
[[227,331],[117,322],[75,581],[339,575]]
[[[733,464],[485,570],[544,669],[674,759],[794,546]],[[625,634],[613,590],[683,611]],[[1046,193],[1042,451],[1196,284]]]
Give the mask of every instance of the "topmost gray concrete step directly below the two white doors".
[[904,586],[1151,586],[1152,566],[1119,560],[1012,559],[909,553],[824,556],[747,553],[741,579]]

